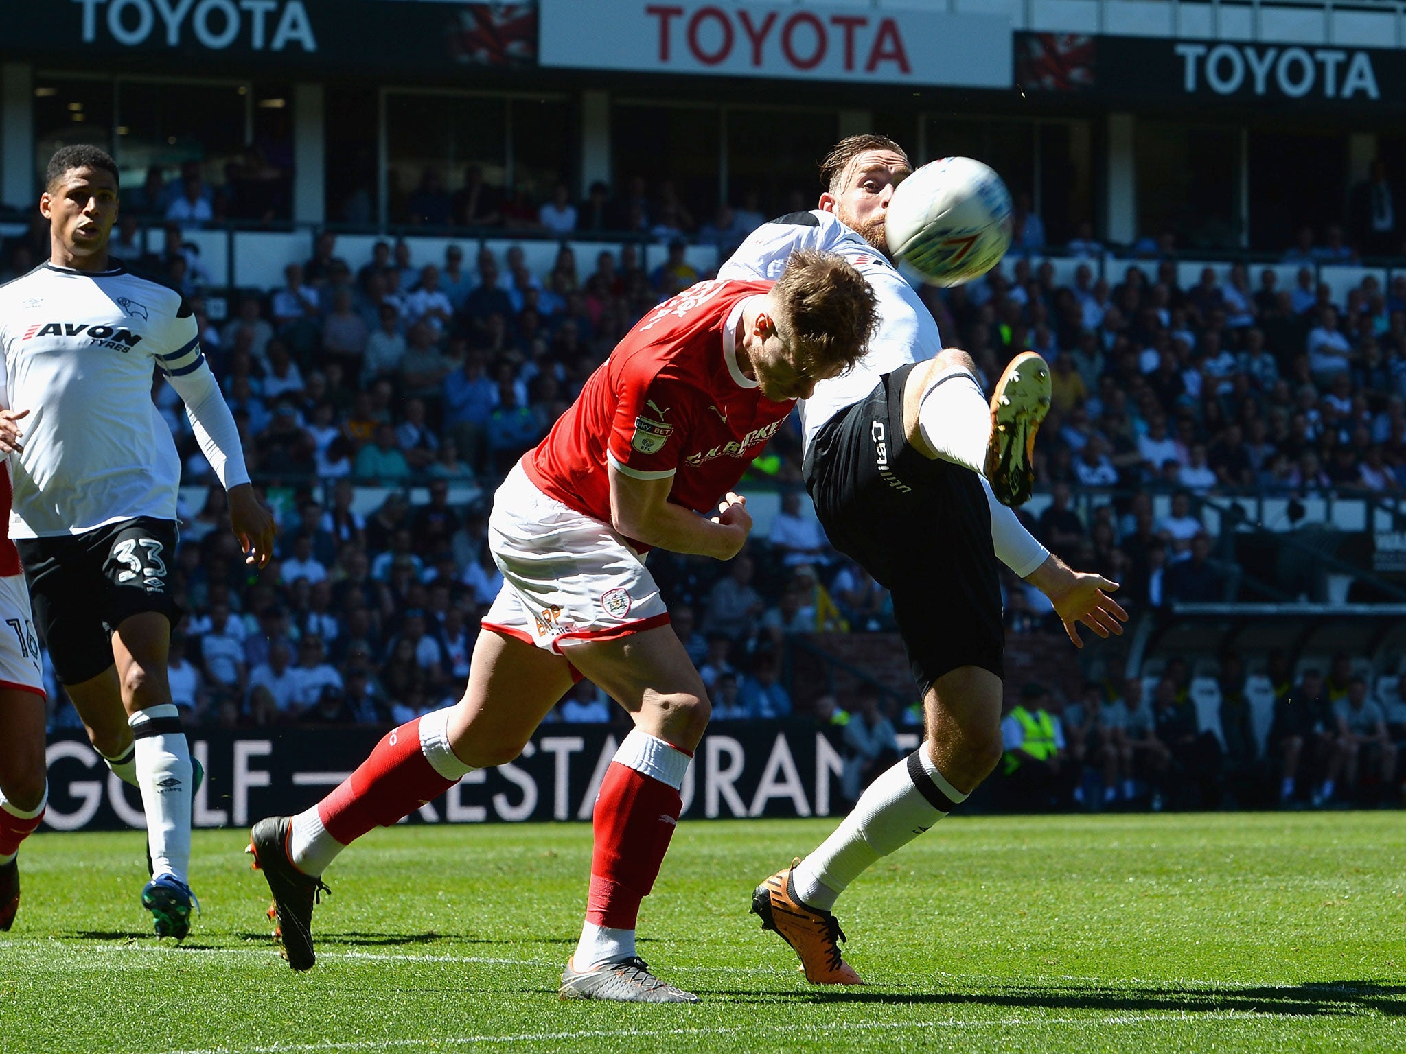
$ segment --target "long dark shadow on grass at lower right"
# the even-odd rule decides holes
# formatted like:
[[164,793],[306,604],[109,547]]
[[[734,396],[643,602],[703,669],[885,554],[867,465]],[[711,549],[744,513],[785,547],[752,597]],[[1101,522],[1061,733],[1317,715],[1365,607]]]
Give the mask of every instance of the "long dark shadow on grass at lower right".
[[[703,989],[697,989],[703,994]],[[710,991],[738,1002],[776,1002],[778,994]],[[780,995],[810,1003],[890,1003],[1010,1006],[1050,1010],[1143,1010],[1178,1013],[1279,1013],[1299,1017],[1406,1016],[1406,985],[1378,981],[1322,981],[1298,985],[1216,985],[1130,982],[1126,985],[1014,984],[972,991],[824,989]]]

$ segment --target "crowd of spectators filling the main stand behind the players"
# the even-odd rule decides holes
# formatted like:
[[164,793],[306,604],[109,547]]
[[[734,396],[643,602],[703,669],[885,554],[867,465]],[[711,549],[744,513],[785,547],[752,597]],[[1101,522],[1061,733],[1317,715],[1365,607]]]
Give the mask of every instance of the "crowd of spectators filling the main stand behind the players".
[[[579,225],[578,207],[557,205],[576,208]],[[562,246],[537,274],[520,249],[496,256],[472,242],[416,259],[411,243],[384,240],[370,260],[344,260],[323,233],[280,288],[235,291],[215,322],[180,221],[165,226],[159,252],[138,252],[134,230],[118,232],[114,253],[191,298],[250,469],[281,521],[278,559],[250,572],[221,528],[222,492],[188,422],[157,381],[186,482],[209,485],[204,507],[187,510],[177,554],[188,618],[173,642],[173,686],[193,721],[225,725],[384,722],[457,698],[499,583],[484,547],[496,482],[637,319],[706,277],[679,252],[647,273],[630,243],[592,261]],[[159,240],[152,232],[146,243]],[[10,268],[32,256],[20,240]],[[1233,594],[1234,568],[1216,558],[1198,514],[1206,495],[1402,486],[1406,278],[1384,288],[1368,277],[1337,301],[1313,275],[1305,266],[1279,289],[1272,270],[1236,266],[1223,281],[1208,268],[1181,288],[1166,259],[1114,285],[1087,267],[1060,285],[1049,264],[1012,259],[1005,274],[922,297],[987,384],[1018,351],[1050,361],[1053,409],[1038,444],[1050,500],[1029,526],[1073,564],[1125,582],[1121,599],[1137,611]],[[794,427],[751,471],[782,490],[766,537],[728,565],[661,552],[651,568],[716,720],[838,720],[834,700],[787,693],[786,637],[891,630],[887,593],[804,514]],[[387,496],[361,514],[356,486]],[[409,486],[429,503],[409,505]],[[1071,495],[1094,489],[1114,500],[1085,519]],[[1170,495],[1161,517],[1157,492]],[[1015,579],[1004,587],[1011,632],[1059,632],[1042,594]],[[886,756],[884,724],[920,721],[912,707],[870,701],[846,701],[849,756],[868,759],[853,762],[851,786]],[[619,720],[614,710],[583,683],[551,720]],[[55,721],[75,717],[58,707]]]

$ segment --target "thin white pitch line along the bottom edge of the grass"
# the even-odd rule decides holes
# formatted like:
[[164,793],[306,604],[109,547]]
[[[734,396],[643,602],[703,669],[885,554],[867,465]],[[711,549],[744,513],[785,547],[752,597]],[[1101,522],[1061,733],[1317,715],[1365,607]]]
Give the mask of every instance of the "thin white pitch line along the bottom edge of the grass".
[[[821,1024],[811,1022],[806,1027],[823,1032],[858,1032],[858,1030],[904,1030],[918,1029],[1010,1029],[1024,1026],[1047,1027],[1050,1024],[1156,1024],[1161,1022],[1205,1022],[1205,1020],[1265,1020],[1272,1017],[1292,1017],[1294,1015],[1257,1013],[1253,1010],[1212,1010],[1208,1013],[1147,1013],[1147,1015],[1111,1015],[1104,1017],[998,1017],[990,1020],[927,1020],[927,1022],[837,1022],[835,1024]],[[754,1026],[716,1026],[703,1029],[592,1029],[585,1032],[524,1032],[510,1036],[447,1036],[420,1040],[354,1040],[347,1043],[276,1043],[270,1047],[198,1047],[184,1050],[169,1050],[162,1054],[316,1054],[318,1051],[359,1051],[359,1050],[405,1050],[411,1047],[471,1047],[471,1046],[505,1046],[509,1043],[564,1043],[572,1040],[602,1040],[602,1039],[664,1039],[668,1036],[733,1036],[738,1033],[756,1032],[790,1032],[796,1026],[787,1024],[754,1024]]]

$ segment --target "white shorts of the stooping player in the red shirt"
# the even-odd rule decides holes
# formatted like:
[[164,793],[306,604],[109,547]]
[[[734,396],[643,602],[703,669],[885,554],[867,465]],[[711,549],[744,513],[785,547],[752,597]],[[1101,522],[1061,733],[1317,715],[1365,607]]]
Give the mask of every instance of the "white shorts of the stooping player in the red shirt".
[[610,524],[538,490],[513,465],[494,495],[488,548],[503,573],[484,628],[557,652],[666,625],[669,613],[640,555]]

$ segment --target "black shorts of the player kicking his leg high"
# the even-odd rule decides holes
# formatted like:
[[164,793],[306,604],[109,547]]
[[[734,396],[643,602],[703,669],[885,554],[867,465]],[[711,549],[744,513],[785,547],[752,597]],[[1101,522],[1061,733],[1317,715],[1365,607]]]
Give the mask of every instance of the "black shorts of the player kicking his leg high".
[[1001,582],[980,476],[927,458],[903,430],[912,365],[831,417],[806,454],[806,488],[831,544],[893,594],[918,687],[959,666],[1004,676]]

